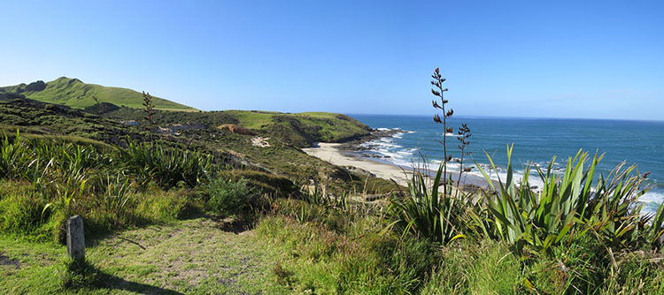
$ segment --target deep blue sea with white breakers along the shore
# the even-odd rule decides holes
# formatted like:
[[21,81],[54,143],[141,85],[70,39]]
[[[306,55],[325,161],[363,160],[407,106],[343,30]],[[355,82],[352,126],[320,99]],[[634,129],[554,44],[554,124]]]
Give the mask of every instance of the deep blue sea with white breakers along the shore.
[[[381,156],[382,161],[403,167],[422,163],[424,156],[429,168],[436,169],[443,159],[443,125],[433,122],[432,116],[399,115],[350,115],[372,128],[398,129],[400,132],[389,138],[373,140],[364,144],[370,153]],[[488,168],[489,161],[484,152],[491,155],[498,165],[496,175],[505,175],[507,163],[506,147],[513,144],[513,168],[521,178],[526,163],[545,169],[555,155],[554,167],[562,170],[567,157],[574,157],[579,149],[591,156],[597,151],[605,153],[598,165],[598,172],[605,176],[620,163],[637,164],[638,172],[650,171],[645,183],[652,189],[641,197],[645,210],[652,212],[664,201],[664,122],[622,121],[568,118],[519,118],[519,117],[452,117],[448,126],[466,123],[471,130],[470,151],[472,159]],[[461,155],[453,134],[447,134],[447,150],[452,156]],[[473,165],[473,160],[464,161]],[[474,166],[474,165],[473,165]],[[452,170],[458,165],[452,163]],[[458,172],[457,172],[458,173]],[[471,176],[480,177],[474,168]],[[456,179],[456,177],[455,177]],[[505,179],[502,177],[501,179]],[[531,180],[538,179],[533,170]],[[533,183],[533,181],[531,181]],[[534,182],[537,185],[537,181]]]

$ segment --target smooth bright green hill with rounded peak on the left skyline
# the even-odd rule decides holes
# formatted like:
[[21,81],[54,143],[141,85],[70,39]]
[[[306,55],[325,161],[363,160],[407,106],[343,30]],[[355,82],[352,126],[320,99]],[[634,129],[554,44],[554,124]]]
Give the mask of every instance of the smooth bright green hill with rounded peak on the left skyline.
[[[143,95],[140,92],[127,88],[86,84],[80,79],[66,77],[60,77],[46,83],[36,81],[30,84],[0,87],[0,94],[3,93],[25,95],[27,98],[34,99],[35,101],[58,103],[78,109],[97,103],[92,96],[96,96],[99,102],[111,102],[119,106],[137,109],[143,107]],[[154,97],[154,102],[158,110],[196,110],[189,106],[158,97]]]

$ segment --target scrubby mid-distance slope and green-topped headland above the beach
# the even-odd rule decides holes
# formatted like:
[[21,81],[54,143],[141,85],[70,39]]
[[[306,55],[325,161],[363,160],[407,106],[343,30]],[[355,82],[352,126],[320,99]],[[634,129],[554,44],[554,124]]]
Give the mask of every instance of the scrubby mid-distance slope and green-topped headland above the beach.
[[[123,146],[127,136],[139,141],[149,138],[143,110],[121,107],[102,115],[86,110],[89,108],[79,110],[26,98],[0,97],[0,138],[4,134],[12,137],[17,129],[26,137],[55,137],[98,147],[109,147],[107,144]],[[343,141],[369,133],[367,125],[345,115],[158,110],[155,121],[163,128],[158,132],[162,142],[205,151],[234,167],[268,172],[300,184],[308,184],[313,178],[319,183],[327,183],[330,190],[335,187],[362,191],[366,187],[367,193],[386,193],[394,188],[387,180],[373,177],[367,180],[306,155],[298,148],[310,147],[316,141]],[[251,126],[255,135],[235,134],[218,128],[225,124]],[[170,128],[175,131],[167,132]],[[251,139],[255,136],[267,138],[270,146],[254,146]],[[238,175],[252,180],[262,177],[261,174],[250,174],[242,172]],[[274,186],[264,179],[260,182],[261,186]]]

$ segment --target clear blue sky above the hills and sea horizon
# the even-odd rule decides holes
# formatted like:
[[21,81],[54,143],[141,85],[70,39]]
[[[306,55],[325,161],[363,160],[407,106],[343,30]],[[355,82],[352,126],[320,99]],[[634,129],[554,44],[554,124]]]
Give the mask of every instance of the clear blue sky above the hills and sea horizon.
[[3,1],[0,85],[201,110],[664,120],[664,1]]

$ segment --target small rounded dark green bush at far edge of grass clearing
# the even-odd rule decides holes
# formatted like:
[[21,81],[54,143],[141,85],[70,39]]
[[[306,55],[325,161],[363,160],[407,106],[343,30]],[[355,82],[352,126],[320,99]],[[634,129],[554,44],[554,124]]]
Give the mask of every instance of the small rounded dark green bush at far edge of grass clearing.
[[213,179],[205,187],[205,193],[209,196],[208,210],[218,216],[233,216],[243,212],[249,206],[253,194],[247,183],[246,179],[236,182]]

